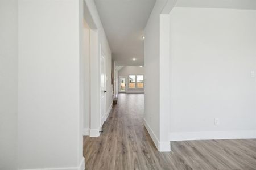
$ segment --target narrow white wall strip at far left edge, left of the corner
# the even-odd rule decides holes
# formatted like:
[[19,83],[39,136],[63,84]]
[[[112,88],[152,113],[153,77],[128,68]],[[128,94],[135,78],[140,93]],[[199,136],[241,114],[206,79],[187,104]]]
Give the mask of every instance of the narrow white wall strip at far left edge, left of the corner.
[[18,1],[0,1],[0,169],[16,169]]

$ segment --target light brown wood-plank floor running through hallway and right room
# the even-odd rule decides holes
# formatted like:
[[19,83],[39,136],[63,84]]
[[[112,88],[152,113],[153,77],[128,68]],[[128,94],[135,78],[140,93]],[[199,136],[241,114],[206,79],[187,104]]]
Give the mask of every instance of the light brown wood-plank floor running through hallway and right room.
[[143,112],[143,94],[120,94],[101,136],[84,137],[85,169],[256,169],[256,139],[172,142],[158,152]]

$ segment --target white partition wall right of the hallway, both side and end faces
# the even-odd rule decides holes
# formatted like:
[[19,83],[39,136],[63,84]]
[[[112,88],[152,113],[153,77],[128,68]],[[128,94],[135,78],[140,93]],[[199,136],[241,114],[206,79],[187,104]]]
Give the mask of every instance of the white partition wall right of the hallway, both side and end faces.
[[170,151],[169,23],[176,0],[158,0],[148,19],[144,40],[144,125],[159,151]]

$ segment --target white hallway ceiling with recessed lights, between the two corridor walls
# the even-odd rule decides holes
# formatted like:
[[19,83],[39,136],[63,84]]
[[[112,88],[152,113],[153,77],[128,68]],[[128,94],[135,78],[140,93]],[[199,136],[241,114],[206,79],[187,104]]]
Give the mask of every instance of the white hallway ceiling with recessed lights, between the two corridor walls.
[[94,1],[117,65],[144,65],[143,30],[155,0]]

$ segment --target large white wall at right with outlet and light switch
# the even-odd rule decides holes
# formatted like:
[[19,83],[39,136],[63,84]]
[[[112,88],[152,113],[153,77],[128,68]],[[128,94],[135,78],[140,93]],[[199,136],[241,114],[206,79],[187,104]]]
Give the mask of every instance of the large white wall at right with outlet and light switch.
[[256,137],[255,20],[255,10],[172,10],[171,141]]

